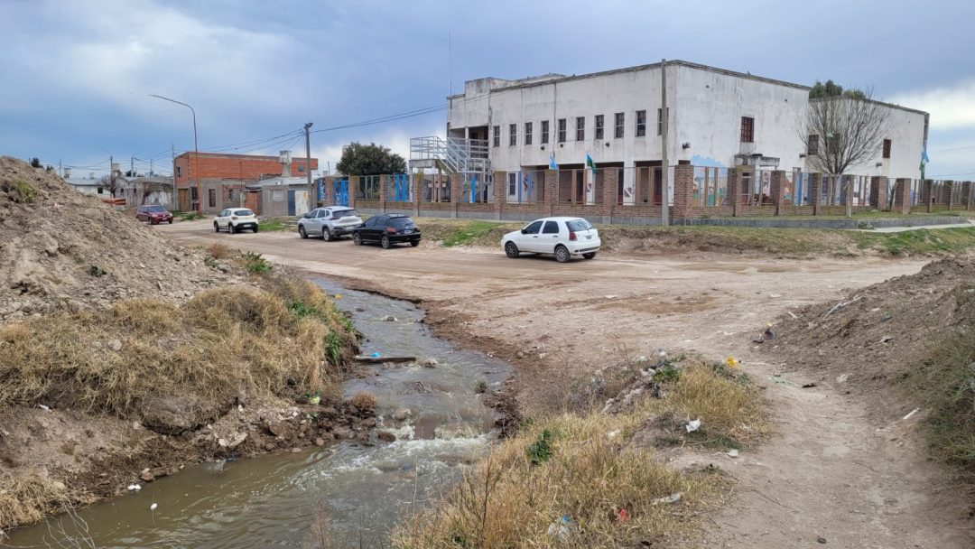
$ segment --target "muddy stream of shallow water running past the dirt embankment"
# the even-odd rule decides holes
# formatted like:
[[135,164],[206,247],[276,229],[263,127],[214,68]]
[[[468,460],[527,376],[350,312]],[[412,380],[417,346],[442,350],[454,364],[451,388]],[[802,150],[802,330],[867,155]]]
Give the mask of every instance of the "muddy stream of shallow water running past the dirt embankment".
[[[378,545],[413,505],[447,489],[464,463],[486,451],[494,417],[475,386],[480,380],[499,383],[509,367],[434,337],[419,323],[423,312],[409,302],[318,283],[341,294],[339,308],[351,312],[368,339],[364,354],[439,362],[433,369],[370,366],[377,375],[343,385],[346,396],[369,391],[377,397],[380,428],[395,433],[397,441],[341,443],[187,467],[140,491],[79,510],[95,547],[299,547],[323,510],[332,540]],[[397,321],[383,321],[388,315]],[[401,409],[411,416],[394,421],[393,412]],[[153,503],[157,507],[150,511]],[[8,544],[58,547],[53,539],[64,535],[52,532],[63,527],[77,536],[76,525],[56,517],[13,532]]]

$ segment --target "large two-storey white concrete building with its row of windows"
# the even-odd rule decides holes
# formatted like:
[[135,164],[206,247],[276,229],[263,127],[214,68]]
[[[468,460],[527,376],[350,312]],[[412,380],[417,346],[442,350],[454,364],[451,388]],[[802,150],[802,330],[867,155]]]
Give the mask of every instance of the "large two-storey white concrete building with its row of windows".
[[[637,200],[634,194],[645,185],[634,179],[649,171],[656,179],[654,167],[662,165],[663,70],[668,165],[814,171],[808,160],[816,145],[798,131],[809,87],[681,60],[583,75],[469,81],[464,93],[448,98],[448,141],[467,143],[465,162],[486,162],[453,162],[453,168],[488,177],[545,170],[552,161],[562,170],[578,169],[588,155],[599,168],[627,169],[619,172],[620,190],[627,202]],[[878,157],[847,175],[916,178],[928,115],[893,104],[883,108],[886,137]],[[430,150],[414,140],[411,165],[435,166],[424,164],[435,156]]]

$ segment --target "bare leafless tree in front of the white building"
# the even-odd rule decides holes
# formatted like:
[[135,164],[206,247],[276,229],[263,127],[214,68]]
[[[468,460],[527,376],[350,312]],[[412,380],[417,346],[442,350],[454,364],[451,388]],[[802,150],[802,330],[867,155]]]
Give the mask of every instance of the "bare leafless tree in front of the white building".
[[[873,88],[809,98],[798,129],[808,146],[809,166],[836,177],[864,166],[878,156],[887,128],[887,105],[874,99]],[[811,95],[811,94],[810,94]],[[853,216],[852,180],[846,180],[846,216]]]

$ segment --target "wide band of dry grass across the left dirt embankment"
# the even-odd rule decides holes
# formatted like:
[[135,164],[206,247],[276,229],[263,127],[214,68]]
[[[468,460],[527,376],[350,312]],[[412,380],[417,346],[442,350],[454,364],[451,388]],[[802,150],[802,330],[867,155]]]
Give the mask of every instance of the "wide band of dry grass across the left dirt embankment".
[[[337,396],[330,341],[351,341],[344,319],[310,283],[229,288],[184,305],[138,299],[0,327],[0,407],[137,413],[169,395],[229,406],[239,395]],[[321,311],[298,316],[301,302]],[[119,348],[121,343],[121,348]],[[117,350],[116,350],[117,349]]]

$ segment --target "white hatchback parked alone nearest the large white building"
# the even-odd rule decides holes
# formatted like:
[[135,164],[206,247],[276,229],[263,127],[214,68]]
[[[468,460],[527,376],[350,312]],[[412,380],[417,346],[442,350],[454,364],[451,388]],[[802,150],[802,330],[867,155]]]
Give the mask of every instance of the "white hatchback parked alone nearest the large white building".
[[572,255],[592,259],[600,251],[600,233],[582,217],[545,217],[501,238],[501,248],[511,258],[522,253],[551,254],[560,263]]

